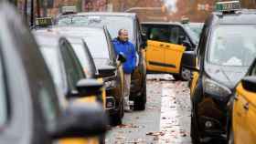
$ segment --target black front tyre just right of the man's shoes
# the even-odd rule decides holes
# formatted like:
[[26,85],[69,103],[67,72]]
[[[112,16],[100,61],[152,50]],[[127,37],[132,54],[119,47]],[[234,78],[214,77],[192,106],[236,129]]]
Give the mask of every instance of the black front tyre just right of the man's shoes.
[[133,110],[144,110],[146,103],[146,84],[144,84],[144,91],[141,96],[134,98]]

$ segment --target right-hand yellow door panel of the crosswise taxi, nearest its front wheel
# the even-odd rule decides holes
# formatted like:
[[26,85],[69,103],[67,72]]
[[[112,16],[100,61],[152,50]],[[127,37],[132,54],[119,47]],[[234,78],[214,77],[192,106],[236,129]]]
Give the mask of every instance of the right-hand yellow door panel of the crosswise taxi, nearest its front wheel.
[[176,44],[165,45],[165,67],[166,72],[178,74],[181,67],[181,58],[185,51],[185,46]]

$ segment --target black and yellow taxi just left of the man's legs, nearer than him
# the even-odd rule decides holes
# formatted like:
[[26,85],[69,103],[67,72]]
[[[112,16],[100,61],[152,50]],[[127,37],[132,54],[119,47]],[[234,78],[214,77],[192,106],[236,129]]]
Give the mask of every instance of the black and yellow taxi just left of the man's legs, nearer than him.
[[123,118],[123,69],[117,66],[117,57],[108,31],[104,28],[85,26],[59,26],[54,30],[63,36],[82,37],[86,42],[99,72],[97,77],[102,77],[105,84],[106,109],[111,116],[112,124],[121,124]]

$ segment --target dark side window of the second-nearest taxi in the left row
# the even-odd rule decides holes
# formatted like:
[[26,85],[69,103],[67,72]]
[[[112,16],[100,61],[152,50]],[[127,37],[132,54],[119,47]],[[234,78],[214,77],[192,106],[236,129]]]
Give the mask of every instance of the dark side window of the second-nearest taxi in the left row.
[[67,43],[61,45],[61,53],[64,60],[64,67],[66,69],[69,90],[76,89],[76,85],[81,78],[84,78],[82,67],[79,60],[75,56],[72,49]]

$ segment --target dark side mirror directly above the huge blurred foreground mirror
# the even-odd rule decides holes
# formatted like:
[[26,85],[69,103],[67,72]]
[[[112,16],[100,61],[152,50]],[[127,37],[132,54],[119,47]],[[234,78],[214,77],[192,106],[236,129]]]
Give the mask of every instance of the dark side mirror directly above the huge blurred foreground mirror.
[[85,78],[80,79],[76,87],[78,91],[69,92],[67,98],[81,98],[92,95],[97,96],[101,94],[101,87],[103,87],[103,83],[99,82],[97,79]]

